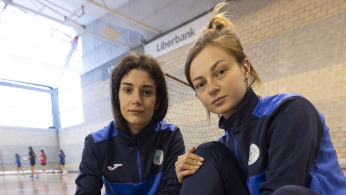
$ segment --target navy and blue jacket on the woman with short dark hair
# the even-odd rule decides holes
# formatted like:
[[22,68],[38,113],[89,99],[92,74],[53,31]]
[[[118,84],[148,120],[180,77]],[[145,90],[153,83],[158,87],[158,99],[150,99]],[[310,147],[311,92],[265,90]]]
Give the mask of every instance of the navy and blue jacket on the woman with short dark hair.
[[76,193],[179,194],[175,181],[177,157],[185,153],[179,128],[165,121],[151,122],[132,139],[110,122],[85,138]]

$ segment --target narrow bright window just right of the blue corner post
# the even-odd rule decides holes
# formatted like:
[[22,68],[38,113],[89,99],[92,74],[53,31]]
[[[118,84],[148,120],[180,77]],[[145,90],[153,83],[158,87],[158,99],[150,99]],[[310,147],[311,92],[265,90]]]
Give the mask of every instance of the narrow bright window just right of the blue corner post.
[[84,122],[81,77],[75,78],[58,88],[61,128]]

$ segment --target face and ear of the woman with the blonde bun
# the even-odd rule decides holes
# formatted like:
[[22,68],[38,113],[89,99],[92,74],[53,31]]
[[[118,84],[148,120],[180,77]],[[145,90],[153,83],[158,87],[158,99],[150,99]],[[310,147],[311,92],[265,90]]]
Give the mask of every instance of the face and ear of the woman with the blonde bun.
[[198,99],[212,113],[230,117],[240,105],[249,77],[249,61],[239,66],[224,49],[207,45],[191,62],[190,78]]

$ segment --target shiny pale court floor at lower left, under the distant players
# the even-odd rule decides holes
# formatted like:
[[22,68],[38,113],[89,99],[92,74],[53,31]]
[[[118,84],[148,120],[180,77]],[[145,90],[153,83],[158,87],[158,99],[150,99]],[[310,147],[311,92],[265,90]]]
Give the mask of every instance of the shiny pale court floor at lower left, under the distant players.
[[[0,176],[1,195],[71,195],[76,190],[74,180],[78,173],[47,173],[38,179],[30,178],[29,175],[6,175]],[[104,189],[101,190],[104,193]]]

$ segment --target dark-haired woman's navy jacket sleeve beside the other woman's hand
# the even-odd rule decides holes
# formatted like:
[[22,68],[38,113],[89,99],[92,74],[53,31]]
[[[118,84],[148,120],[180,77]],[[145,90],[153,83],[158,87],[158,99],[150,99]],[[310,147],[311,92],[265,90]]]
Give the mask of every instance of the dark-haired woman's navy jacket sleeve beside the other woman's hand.
[[183,136],[181,135],[180,129],[176,128],[174,131],[174,137],[170,145],[170,154],[167,158],[166,170],[163,174],[163,189],[160,191],[160,195],[163,194],[180,194],[181,183],[175,179],[175,166],[174,163],[177,161],[178,156],[185,153],[185,145]]

